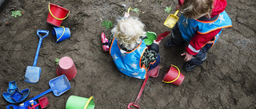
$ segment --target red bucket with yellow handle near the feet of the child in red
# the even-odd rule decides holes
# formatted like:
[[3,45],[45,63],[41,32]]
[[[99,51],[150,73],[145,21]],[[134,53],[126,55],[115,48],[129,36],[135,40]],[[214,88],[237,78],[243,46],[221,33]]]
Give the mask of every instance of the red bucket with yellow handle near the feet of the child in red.
[[179,69],[171,64],[169,70],[166,72],[166,75],[163,77],[162,82],[171,83],[175,85],[182,84],[185,76],[179,71]]

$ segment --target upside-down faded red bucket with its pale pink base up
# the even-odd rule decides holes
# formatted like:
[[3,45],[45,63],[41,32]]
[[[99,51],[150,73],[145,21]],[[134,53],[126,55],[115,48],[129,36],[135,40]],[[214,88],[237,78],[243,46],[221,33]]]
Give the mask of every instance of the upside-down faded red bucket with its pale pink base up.
[[77,68],[75,68],[74,62],[69,56],[63,56],[58,61],[57,75],[61,76],[62,74],[64,74],[68,80],[73,79],[77,74]]

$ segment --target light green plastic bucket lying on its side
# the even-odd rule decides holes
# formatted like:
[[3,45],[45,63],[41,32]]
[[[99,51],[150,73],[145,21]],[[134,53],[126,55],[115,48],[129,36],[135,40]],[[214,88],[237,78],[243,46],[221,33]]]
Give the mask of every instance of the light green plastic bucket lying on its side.
[[76,95],[70,95],[66,101],[66,109],[94,109],[94,97],[90,96],[89,99]]

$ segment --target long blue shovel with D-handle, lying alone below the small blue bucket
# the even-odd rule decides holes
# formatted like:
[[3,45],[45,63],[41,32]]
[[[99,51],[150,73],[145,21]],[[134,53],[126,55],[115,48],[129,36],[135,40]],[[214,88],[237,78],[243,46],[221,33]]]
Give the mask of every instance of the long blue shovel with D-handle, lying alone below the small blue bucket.
[[[41,36],[40,33],[45,33],[44,36]],[[42,29],[38,29],[38,37],[40,38],[39,42],[38,42],[38,49],[37,49],[37,53],[34,56],[34,63],[33,66],[27,66],[26,67],[26,73],[25,73],[25,79],[24,81],[27,83],[37,83],[39,81],[40,78],[40,74],[41,74],[41,68],[37,67],[37,61],[38,61],[38,55],[39,55],[39,50],[41,48],[42,45],[42,39],[48,36],[49,31],[48,30],[42,30]]]

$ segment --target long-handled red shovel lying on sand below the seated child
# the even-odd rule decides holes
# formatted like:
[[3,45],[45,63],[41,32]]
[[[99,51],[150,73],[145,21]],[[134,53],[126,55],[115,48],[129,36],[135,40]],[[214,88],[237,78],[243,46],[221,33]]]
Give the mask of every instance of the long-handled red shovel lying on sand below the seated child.
[[142,88],[141,88],[141,90],[138,92],[138,96],[137,96],[135,102],[129,103],[127,109],[134,109],[134,108],[132,108],[131,106],[137,107],[138,109],[140,108],[139,105],[138,105],[138,100],[139,100],[139,98],[141,98],[142,91],[144,90],[145,85],[146,85],[146,81],[149,79],[150,76],[151,76],[151,77],[157,77],[157,76],[158,76],[158,73],[159,73],[159,69],[160,69],[160,68],[159,68],[159,65],[158,65],[157,67],[155,67],[155,68],[153,68],[153,69],[151,69],[150,71],[147,72],[148,75],[146,75],[146,78],[145,78],[145,80],[144,80],[144,83],[142,84]]

